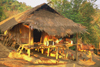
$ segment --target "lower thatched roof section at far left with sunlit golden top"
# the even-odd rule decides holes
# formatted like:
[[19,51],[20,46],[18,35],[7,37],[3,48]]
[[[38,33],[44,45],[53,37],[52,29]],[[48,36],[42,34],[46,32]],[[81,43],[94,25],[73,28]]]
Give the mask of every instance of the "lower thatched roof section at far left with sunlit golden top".
[[13,27],[14,25],[18,24],[21,21],[19,18],[27,11],[24,11],[24,12],[19,13],[17,15],[11,16],[11,17],[1,21],[0,22],[0,30],[6,31],[9,28]]

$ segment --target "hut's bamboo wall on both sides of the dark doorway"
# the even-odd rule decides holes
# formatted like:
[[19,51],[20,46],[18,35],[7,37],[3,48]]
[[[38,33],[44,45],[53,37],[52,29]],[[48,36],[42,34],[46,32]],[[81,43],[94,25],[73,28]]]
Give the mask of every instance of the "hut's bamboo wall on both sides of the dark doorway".
[[[34,30],[31,30],[31,44],[33,44],[34,42],[33,32]],[[15,25],[12,29],[10,29],[9,34],[11,35],[11,37],[15,36],[14,40],[16,40],[18,43],[29,43],[29,27],[23,25],[22,23],[19,23]],[[49,38],[49,35],[43,31],[41,33],[40,43],[45,43],[47,41],[47,38]]]

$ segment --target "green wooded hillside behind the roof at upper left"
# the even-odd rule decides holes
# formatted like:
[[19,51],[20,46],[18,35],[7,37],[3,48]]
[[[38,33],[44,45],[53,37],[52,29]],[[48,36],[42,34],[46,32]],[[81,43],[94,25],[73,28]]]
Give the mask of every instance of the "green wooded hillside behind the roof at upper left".
[[17,0],[0,0],[0,21],[30,8]]

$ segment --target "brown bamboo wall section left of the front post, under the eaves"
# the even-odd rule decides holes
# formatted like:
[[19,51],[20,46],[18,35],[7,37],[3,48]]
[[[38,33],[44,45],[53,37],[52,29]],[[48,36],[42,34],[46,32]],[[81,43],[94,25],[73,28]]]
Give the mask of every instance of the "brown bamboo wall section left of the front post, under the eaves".
[[[11,34],[11,36],[15,36],[14,39],[17,42],[21,42],[25,44],[29,43],[29,27],[28,26],[24,26],[20,23],[18,25],[15,25],[12,29],[10,29],[9,33]],[[31,39],[32,38],[33,38],[33,34],[31,35]]]

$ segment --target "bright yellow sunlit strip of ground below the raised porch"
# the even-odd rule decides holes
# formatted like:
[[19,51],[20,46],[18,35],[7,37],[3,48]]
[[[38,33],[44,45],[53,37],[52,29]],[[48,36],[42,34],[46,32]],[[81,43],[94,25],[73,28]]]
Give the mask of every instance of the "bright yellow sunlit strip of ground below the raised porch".
[[17,52],[10,52],[9,53],[9,58],[13,58],[13,59],[23,59],[26,61],[29,61],[33,64],[65,64],[67,63],[66,61],[59,61],[57,62],[56,59],[49,59],[49,58],[45,58],[45,57],[39,57],[39,55],[34,54],[35,57],[38,57],[38,59],[36,59],[35,57],[29,57],[28,55],[25,54],[19,54]]

